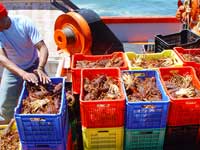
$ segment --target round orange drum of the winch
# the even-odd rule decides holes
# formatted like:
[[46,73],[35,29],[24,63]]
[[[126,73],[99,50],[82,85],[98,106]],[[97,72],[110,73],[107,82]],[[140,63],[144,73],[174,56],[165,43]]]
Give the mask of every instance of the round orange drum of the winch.
[[92,36],[87,21],[76,12],[60,15],[54,27],[54,40],[58,49],[73,55],[91,54]]

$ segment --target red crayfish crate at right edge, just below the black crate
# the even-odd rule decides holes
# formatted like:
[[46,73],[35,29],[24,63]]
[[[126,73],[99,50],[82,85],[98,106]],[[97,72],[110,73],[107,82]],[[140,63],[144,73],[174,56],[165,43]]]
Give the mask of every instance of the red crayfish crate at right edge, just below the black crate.
[[200,48],[184,49],[182,47],[174,47],[174,51],[183,61],[184,66],[192,66],[197,77],[200,79]]

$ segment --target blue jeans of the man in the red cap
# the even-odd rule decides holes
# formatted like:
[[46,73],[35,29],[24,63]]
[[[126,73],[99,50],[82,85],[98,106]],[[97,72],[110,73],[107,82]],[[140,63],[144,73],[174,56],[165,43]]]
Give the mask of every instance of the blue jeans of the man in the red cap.
[[[35,61],[32,67],[26,69],[27,72],[33,72],[37,68],[39,59]],[[3,71],[0,84],[0,119],[11,120],[14,116],[14,109],[18,103],[18,97],[22,89],[23,79],[6,68]]]

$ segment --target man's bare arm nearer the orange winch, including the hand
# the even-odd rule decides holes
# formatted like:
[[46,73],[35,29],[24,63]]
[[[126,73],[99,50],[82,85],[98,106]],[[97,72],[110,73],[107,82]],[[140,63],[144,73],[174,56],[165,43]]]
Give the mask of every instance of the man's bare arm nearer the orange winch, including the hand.
[[38,42],[35,47],[39,50],[39,65],[37,68],[38,76],[43,84],[49,83],[50,78],[44,72],[44,67],[47,63],[47,59],[49,56],[48,48],[43,40]]

